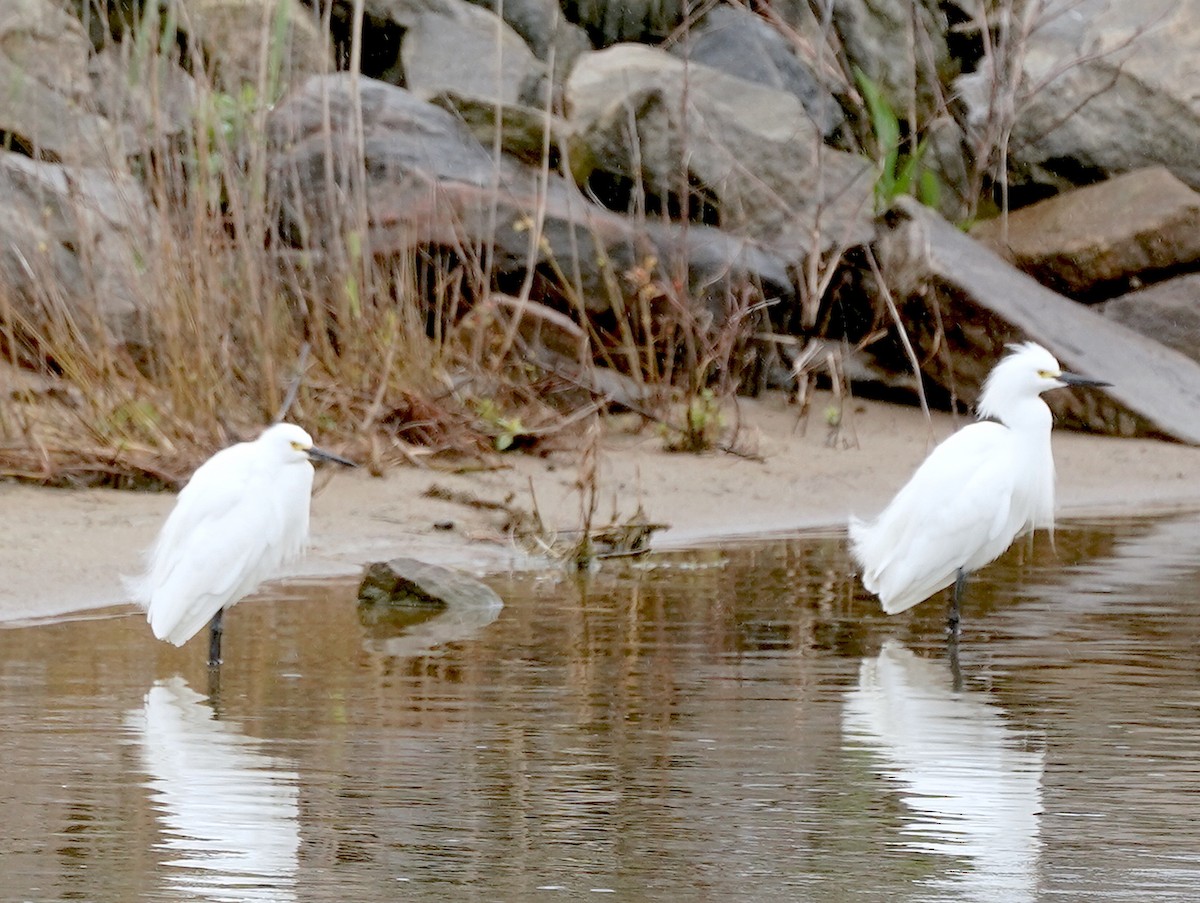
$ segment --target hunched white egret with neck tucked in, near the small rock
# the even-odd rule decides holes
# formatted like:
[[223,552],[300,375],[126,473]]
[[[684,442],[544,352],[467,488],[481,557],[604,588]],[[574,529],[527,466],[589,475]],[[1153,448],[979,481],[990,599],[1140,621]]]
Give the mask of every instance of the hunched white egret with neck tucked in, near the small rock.
[[145,573],[127,581],[154,635],[182,646],[209,623],[209,664],[221,664],[222,615],[304,551],[312,460],[322,452],[293,424],[217,452],[179,494],[150,550]]

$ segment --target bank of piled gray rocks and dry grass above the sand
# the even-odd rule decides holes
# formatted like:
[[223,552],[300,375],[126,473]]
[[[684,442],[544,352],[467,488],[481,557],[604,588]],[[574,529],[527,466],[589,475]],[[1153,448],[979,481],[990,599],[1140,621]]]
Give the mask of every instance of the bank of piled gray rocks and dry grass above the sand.
[[1114,384],[1063,424],[1200,441],[1200,0],[11,6],[0,474],[961,408],[1019,339]]

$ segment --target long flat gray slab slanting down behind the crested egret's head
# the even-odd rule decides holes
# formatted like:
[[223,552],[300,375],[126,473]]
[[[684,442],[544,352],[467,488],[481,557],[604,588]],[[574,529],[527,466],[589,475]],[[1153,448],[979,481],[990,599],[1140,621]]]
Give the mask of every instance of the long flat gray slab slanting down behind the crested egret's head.
[[1061,423],[1200,444],[1200,364],[1036,282],[936,213],[901,201],[880,259],[928,376],[974,402],[1007,342],[1040,342],[1112,383],[1045,395]]

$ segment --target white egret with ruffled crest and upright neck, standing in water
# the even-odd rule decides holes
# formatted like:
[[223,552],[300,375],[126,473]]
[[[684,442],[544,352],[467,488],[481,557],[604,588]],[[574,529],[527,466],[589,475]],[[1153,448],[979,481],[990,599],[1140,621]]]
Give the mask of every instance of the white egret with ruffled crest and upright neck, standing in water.
[[1021,533],[1054,527],[1050,408],[1042,393],[1108,385],[1066,373],[1034,342],[1013,345],[988,375],[980,418],[932,450],[871,522],[850,520],[850,548],[863,586],[889,615],[954,584],[948,627],[958,634],[967,574],[1000,556]]

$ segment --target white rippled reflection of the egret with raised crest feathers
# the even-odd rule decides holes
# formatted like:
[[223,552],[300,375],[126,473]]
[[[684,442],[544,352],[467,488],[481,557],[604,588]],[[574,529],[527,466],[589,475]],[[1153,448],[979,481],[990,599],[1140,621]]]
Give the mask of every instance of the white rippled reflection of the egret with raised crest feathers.
[[895,640],[863,659],[845,699],[844,743],[868,749],[911,817],[901,843],[956,857],[931,885],[955,899],[1037,897],[1044,752],[980,692],[956,690],[944,663]]

